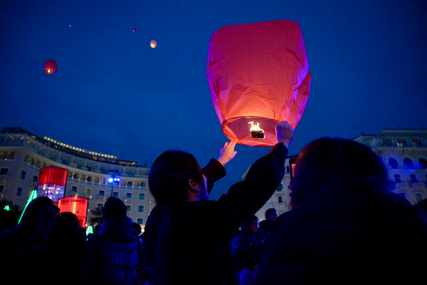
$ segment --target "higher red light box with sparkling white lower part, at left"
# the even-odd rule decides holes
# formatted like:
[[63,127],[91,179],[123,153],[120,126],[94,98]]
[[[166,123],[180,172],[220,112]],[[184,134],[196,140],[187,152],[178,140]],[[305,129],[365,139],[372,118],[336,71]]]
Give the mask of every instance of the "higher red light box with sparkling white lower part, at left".
[[49,197],[53,202],[65,195],[68,170],[56,166],[43,167],[38,179],[38,197]]

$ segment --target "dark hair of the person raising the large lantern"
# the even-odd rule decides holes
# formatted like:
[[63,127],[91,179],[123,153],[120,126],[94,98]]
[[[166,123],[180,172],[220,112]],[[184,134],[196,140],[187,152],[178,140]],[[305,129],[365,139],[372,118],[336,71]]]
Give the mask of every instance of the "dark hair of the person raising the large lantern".
[[181,150],[167,150],[154,160],[148,177],[149,190],[159,205],[184,201],[190,179],[203,181],[196,158]]

